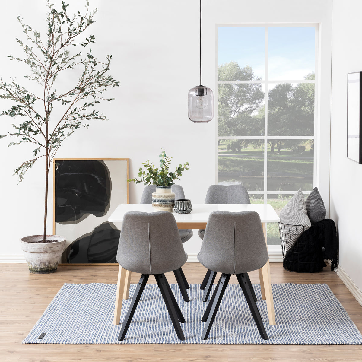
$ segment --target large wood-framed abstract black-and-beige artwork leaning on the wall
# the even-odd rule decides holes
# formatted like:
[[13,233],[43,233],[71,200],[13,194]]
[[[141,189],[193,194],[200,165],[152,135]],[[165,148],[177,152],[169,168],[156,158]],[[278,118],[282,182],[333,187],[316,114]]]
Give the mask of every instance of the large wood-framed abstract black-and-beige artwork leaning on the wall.
[[63,264],[116,263],[120,231],[109,216],[129,203],[129,159],[54,159],[53,234]]

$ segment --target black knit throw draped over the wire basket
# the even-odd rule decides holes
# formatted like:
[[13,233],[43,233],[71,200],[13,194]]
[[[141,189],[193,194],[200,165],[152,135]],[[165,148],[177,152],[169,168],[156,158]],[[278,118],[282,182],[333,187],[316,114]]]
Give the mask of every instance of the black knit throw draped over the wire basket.
[[326,266],[324,259],[331,261],[331,271],[337,268],[338,240],[332,219],[312,224],[304,231],[287,251],[283,267],[291,271],[316,273]]

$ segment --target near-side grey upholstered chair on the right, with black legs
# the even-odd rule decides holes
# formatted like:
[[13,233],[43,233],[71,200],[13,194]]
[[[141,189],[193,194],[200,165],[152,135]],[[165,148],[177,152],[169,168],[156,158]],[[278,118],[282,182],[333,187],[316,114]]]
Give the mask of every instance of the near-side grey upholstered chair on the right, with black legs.
[[259,214],[255,211],[211,212],[197,258],[215,274],[222,273],[202,317],[206,324],[201,338],[205,340],[209,336],[231,274],[236,274],[260,336],[268,339],[250,279],[246,277],[248,271],[262,268],[269,260]]

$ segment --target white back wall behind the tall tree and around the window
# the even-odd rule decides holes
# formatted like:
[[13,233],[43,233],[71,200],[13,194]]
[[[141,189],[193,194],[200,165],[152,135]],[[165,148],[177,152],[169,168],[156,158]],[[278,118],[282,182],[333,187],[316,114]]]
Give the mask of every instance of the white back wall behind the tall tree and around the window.
[[[85,1],[70,3],[69,8],[77,10],[83,8]],[[164,147],[176,164],[189,161],[190,170],[180,181],[186,197],[194,203],[203,203],[207,186],[216,180],[216,119],[207,124],[194,124],[187,116],[187,94],[199,79],[198,2],[90,0],[90,3],[92,8],[99,9],[97,22],[90,28],[96,37],[92,50],[99,57],[113,54],[111,74],[121,83],[107,94],[116,100],[98,107],[109,121],[94,121],[88,130],[77,132],[64,142],[57,157],[129,157],[130,175],[134,177],[140,163],[149,158],[157,160],[160,148]],[[15,41],[22,34],[16,20],[18,14],[44,33],[44,12],[43,0],[2,4],[0,73],[3,79],[16,76],[18,82],[28,84],[22,79],[26,68],[10,62],[6,55],[21,55]],[[318,167],[323,172],[317,186],[328,206],[331,0],[203,1],[204,85],[214,90],[216,87],[215,24],[243,22],[321,24],[319,91],[323,132]],[[63,80],[67,81],[72,81],[72,77]],[[1,109],[5,108],[4,102],[0,104]],[[11,119],[0,119],[0,134],[11,130],[10,123]],[[42,164],[36,164],[25,181],[17,185],[12,171],[29,159],[31,152],[25,153],[26,146],[7,148],[6,141],[6,138],[0,140],[0,254],[11,258],[21,254],[17,242],[20,237],[42,230],[43,171]],[[130,186],[131,203],[139,202],[142,189],[142,185]],[[51,231],[51,218],[48,225]],[[199,246],[196,235],[186,243],[185,249],[195,253]]]

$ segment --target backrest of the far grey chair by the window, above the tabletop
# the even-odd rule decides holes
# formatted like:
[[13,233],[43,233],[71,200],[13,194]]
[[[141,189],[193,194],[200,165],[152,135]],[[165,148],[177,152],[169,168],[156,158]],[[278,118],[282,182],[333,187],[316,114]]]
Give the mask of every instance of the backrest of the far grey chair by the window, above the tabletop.
[[211,185],[207,189],[205,203],[250,203],[250,199],[243,185]]

